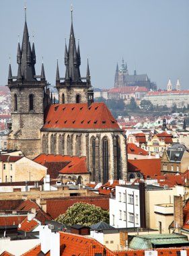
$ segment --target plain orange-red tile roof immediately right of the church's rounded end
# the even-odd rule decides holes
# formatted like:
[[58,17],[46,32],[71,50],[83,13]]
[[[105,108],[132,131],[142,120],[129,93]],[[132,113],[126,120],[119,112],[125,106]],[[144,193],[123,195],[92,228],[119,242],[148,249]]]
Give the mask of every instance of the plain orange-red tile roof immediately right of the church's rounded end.
[[152,177],[154,175],[161,175],[161,159],[128,159],[128,172],[140,171],[145,178]]

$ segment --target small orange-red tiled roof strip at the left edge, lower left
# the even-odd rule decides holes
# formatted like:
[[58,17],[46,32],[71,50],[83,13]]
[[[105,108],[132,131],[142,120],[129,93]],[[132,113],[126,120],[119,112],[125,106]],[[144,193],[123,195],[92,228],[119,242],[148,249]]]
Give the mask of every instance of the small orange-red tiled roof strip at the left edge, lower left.
[[11,226],[11,225],[18,225],[23,220],[25,220],[28,217],[28,215],[15,215],[10,214],[8,216],[0,215],[0,226]]

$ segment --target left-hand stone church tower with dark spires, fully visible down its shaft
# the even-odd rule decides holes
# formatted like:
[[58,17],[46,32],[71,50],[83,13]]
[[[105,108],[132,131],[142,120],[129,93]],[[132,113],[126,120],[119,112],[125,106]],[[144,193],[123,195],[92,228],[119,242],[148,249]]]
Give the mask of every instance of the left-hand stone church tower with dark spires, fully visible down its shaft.
[[44,108],[50,103],[44,74],[35,71],[36,53],[30,45],[28,26],[25,24],[22,40],[17,46],[17,75],[12,76],[9,65],[8,87],[11,91],[11,131],[7,139],[8,150],[22,150],[28,157],[40,154],[40,128],[44,125]]

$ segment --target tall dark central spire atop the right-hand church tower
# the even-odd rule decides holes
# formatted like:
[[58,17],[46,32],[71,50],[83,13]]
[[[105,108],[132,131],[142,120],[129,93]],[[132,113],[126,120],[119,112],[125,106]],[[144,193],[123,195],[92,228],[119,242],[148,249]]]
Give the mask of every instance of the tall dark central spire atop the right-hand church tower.
[[[67,46],[65,46],[65,65],[68,66],[68,71],[66,70],[67,77],[68,73],[70,75],[71,82],[81,82],[79,65],[81,63],[80,51],[78,56],[78,51],[75,44],[75,36],[73,32],[73,9],[71,7],[71,32],[69,36],[69,50],[67,52]],[[67,79],[67,78],[66,78]]]

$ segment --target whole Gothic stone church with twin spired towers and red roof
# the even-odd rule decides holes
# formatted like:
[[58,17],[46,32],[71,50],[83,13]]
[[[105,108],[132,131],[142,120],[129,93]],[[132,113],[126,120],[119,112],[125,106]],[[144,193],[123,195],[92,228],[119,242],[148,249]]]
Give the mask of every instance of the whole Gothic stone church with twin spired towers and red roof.
[[93,102],[89,65],[81,77],[79,45],[71,22],[69,49],[65,45],[65,77],[56,70],[59,104],[52,104],[44,75],[36,75],[34,44],[30,46],[25,22],[22,48],[17,50],[17,76],[9,65],[11,90],[9,150],[22,150],[29,158],[38,154],[86,156],[91,181],[127,179],[126,138],[106,104]]

